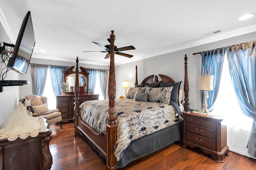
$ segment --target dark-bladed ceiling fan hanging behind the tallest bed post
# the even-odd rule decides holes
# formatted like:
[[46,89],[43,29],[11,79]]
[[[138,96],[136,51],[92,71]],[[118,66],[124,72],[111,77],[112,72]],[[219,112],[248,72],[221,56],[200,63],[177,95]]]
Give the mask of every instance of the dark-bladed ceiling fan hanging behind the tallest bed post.
[[[110,43],[110,39],[109,38],[108,38],[108,42]],[[102,48],[104,48],[105,51],[82,51],[82,52],[101,52],[101,53],[107,53],[104,59],[108,59],[110,57],[110,45],[105,45],[104,46],[104,45],[102,45],[100,43],[96,43],[96,42],[93,42],[93,43],[98,45],[98,46],[100,46],[100,47],[102,47]],[[132,58],[133,55],[126,54],[126,53],[121,53],[119,51],[134,50],[134,49],[135,49],[135,47],[133,47],[132,45],[127,46],[127,47],[121,47],[121,48],[117,48],[115,46],[115,48],[114,48],[115,52],[114,53],[117,54],[117,55],[122,55],[124,57]]]

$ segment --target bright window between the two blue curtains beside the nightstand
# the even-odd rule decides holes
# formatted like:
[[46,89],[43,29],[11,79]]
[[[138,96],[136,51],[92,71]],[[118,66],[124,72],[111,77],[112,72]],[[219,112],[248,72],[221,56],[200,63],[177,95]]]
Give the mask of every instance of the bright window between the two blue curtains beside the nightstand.
[[223,116],[220,118],[223,118],[222,123],[227,125],[227,145],[229,150],[254,158],[248,154],[248,149],[246,148],[253,120],[244,115],[238,106],[226,58],[225,55],[220,89],[211,114]]

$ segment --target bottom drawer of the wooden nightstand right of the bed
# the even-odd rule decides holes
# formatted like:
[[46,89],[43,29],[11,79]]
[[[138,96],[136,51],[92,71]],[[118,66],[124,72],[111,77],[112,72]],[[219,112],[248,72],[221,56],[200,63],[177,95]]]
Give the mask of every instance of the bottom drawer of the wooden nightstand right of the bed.
[[208,149],[215,150],[214,140],[207,139],[192,133],[186,133],[187,141],[199,145],[200,147],[206,147]]

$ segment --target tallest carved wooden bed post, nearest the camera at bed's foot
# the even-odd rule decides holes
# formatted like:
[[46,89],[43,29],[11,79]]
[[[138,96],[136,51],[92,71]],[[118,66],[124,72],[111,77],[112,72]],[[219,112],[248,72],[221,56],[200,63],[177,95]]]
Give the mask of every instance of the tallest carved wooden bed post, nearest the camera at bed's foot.
[[116,157],[114,155],[114,146],[116,143],[116,117],[114,113],[115,109],[115,98],[116,98],[116,76],[115,76],[115,64],[114,64],[114,41],[115,35],[114,31],[111,31],[110,35],[110,68],[109,68],[109,80],[108,80],[108,98],[109,98],[109,117],[108,125],[106,127],[107,132],[107,160],[106,160],[106,169],[107,170],[116,170]]

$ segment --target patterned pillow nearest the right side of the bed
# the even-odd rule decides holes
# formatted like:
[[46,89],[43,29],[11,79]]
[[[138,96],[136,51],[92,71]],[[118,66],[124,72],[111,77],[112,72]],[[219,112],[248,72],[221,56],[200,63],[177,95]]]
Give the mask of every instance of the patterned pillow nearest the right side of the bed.
[[169,103],[173,87],[146,87],[145,93],[149,93],[150,102]]

